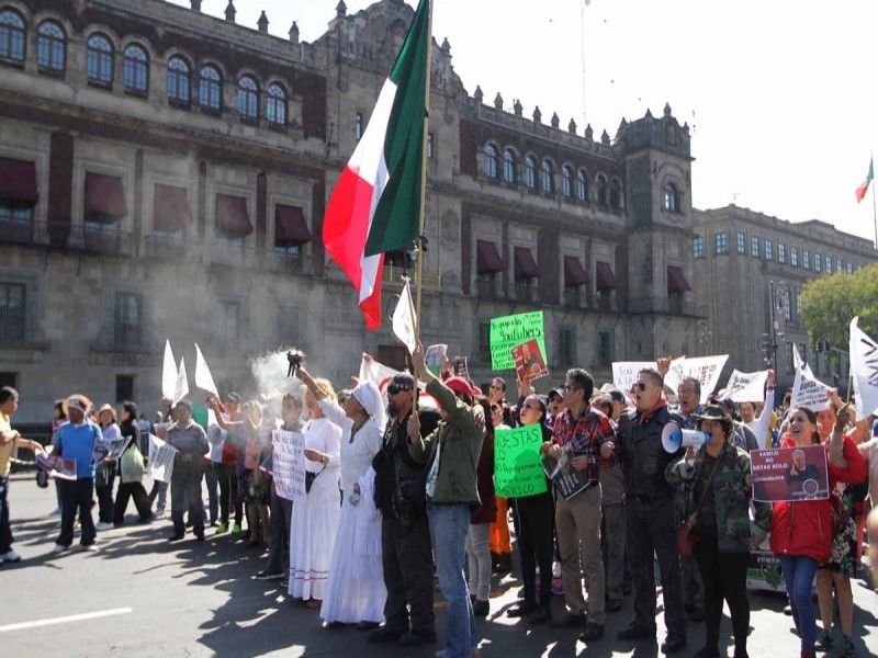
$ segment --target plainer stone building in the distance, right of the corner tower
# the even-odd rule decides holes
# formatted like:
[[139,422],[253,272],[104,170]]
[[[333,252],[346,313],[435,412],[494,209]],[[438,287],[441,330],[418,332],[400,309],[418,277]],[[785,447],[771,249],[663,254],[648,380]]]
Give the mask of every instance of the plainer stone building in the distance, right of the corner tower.
[[765,368],[772,350],[764,337],[770,334],[774,305],[778,383],[792,385],[795,343],[817,375],[846,388],[847,358],[833,353],[829,360],[814,351],[801,322],[800,295],[813,279],[851,274],[874,263],[873,242],[825,222],[792,224],[735,205],[696,209],[693,222],[693,284],[710,318],[699,328],[700,353],[728,352],[728,370]]

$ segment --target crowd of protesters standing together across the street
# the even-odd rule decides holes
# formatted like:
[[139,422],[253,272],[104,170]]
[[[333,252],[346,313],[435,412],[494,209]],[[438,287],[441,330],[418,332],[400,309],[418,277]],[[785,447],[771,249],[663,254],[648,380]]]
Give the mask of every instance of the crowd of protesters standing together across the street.
[[[617,639],[654,640],[657,563],[662,651],[684,649],[688,624],[703,623],[706,642],[696,656],[720,656],[727,603],[734,656],[744,658],[750,554],[770,546],[802,658],[830,648],[853,656],[851,578],[860,563],[868,503],[878,502],[875,418],[855,421],[852,405],[834,394],[818,415],[790,408],[788,396],[775,410],[774,373],[763,400],[736,405],[720,393],[702,405],[698,379],[685,378],[676,390],[664,385],[668,366],[660,360],[640,371],[628,392],[596,389],[585,370],[573,368],[548,396],[518,381],[517,399],[509,400],[499,377],[484,393],[449,372],[447,361],[434,374],[418,347],[414,372],[396,373],[384,390],[354,378],[352,388],[336,393],[300,367],[301,392],[268,404],[243,402],[236,393],[222,401],[210,397],[219,443],[209,441],[187,399],[165,400],[159,418],[144,427],[133,402],[95,409],[76,394],[56,405],[44,449],[12,429],[19,396],[3,388],[0,561],[20,559],[7,503],[18,443],[76,462],[76,479],[55,481],[56,554],[74,546],[77,517],[79,548],[97,551],[98,533],[124,524],[132,500],[138,520],[150,522],[164,511],[169,488],[171,542],[183,540],[188,526],[198,541],[209,527],[240,535],[267,551],[256,578],[279,580],[291,599],[319,611],[327,628],[356,625],[370,643],[436,643],[436,578],[447,602],[437,656],[480,656],[477,620],[491,610],[492,574],[513,568],[515,536],[524,591],[506,613],[522,624],[575,628],[582,642],[594,643],[604,637],[606,616],[633,592],[633,619]],[[668,452],[662,436],[672,422],[703,432],[703,444]],[[495,432],[528,426],[539,428],[541,453],[569,460],[584,478],[575,496],[565,498],[548,479],[548,490],[533,496],[495,494]],[[272,481],[275,429],[304,438],[306,492],[295,502],[279,496]],[[150,492],[143,484],[144,433],[177,450],[169,486],[157,481]],[[95,443],[119,439],[126,440],[122,456],[95,463]],[[753,500],[752,450],[810,445],[824,446],[829,499]],[[791,470],[797,467],[804,468],[795,463]],[[876,513],[870,521],[878,521]],[[878,530],[871,530],[875,541]],[[553,594],[563,594],[560,616],[552,612]],[[834,602],[841,634],[833,627]]]

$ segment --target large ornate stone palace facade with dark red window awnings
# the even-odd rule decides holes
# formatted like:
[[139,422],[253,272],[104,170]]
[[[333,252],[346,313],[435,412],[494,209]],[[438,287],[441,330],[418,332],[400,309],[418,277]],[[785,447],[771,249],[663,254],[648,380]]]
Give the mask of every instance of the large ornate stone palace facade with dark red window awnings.
[[[288,345],[339,384],[363,350],[404,362],[320,235],[412,8],[340,2],[308,44],[200,5],[0,0],[0,379],[23,421],[74,390],[151,408],[166,338],[246,394]],[[424,342],[484,382],[491,318],[542,309],[553,381],[693,353],[688,127],[666,106],[596,138],[506,106],[434,42]],[[390,298],[413,266],[386,260]]]

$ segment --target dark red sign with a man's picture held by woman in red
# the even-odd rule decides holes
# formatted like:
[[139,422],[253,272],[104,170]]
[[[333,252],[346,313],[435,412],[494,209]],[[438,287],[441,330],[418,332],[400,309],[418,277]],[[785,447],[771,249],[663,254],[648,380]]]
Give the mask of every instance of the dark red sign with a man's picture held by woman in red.
[[750,453],[753,500],[826,500],[830,497],[826,451],[822,445]]

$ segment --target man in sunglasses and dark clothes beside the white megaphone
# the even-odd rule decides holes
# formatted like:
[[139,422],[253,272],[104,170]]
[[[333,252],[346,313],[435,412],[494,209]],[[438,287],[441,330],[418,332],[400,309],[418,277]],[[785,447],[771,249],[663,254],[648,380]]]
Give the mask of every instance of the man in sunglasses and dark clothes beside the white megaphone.
[[[668,422],[684,424],[672,413],[663,397],[664,378],[657,370],[644,368],[633,388],[633,410],[619,418],[619,454],[626,472],[626,530],[634,583],[634,621],[619,632],[622,640],[655,638],[655,571],[653,555],[658,556],[667,637],[664,654],[676,654],[686,646],[686,614],[683,604],[683,578],[677,556],[674,488],[665,481],[667,465],[679,461],[684,452],[665,452],[662,430]],[[615,446],[604,445],[601,456],[609,457]]]

